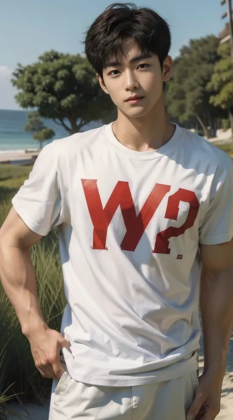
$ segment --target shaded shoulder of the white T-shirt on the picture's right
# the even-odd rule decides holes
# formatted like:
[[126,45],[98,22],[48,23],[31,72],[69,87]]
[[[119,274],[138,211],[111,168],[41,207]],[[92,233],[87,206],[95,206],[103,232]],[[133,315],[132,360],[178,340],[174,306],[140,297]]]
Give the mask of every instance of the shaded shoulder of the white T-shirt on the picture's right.
[[216,171],[225,172],[232,168],[232,158],[223,150],[214,146],[211,142],[198,136],[191,131],[183,131],[183,141],[187,147],[187,152],[191,153],[191,158],[202,168],[212,168]]

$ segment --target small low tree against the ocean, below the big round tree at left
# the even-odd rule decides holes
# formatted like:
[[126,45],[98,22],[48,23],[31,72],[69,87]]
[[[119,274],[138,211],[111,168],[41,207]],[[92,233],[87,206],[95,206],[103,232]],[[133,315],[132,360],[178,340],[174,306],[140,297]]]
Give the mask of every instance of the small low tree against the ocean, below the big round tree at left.
[[29,112],[25,130],[34,133],[33,139],[40,142],[40,150],[42,150],[45,140],[51,140],[55,136],[54,130],[44,125],[38,112]]

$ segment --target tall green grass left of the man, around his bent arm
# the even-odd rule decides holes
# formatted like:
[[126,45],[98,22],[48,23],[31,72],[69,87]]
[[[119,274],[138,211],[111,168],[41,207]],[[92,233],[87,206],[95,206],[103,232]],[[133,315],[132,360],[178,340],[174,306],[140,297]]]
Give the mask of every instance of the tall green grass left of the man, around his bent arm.
[[[14,167],[0,165],[0,226],[11,208],[12,197],[30,171],[30,168],[15,169],[14,177]],[[3,181],[4,177],[7,179]],[[59,330],[65,297],[56,231],[31,248],[31,259],[44,319],[50,328]],[[4,418],[3,401],[7,397],[16,394],[15,398],[22,402],[42,403],[49,396],[50,387],[51,380],[43,379],[35,368],[29,342],[22,335],[15,311],[0,282],[0,419]]]

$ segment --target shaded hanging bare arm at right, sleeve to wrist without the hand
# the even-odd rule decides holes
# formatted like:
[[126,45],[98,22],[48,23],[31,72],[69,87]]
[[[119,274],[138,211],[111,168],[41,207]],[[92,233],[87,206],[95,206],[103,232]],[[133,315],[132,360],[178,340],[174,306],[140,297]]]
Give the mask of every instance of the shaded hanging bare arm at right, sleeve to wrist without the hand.
[[204,373],[224,376],[233,328],[233,240],[202,245],[200,308],[204,338]]

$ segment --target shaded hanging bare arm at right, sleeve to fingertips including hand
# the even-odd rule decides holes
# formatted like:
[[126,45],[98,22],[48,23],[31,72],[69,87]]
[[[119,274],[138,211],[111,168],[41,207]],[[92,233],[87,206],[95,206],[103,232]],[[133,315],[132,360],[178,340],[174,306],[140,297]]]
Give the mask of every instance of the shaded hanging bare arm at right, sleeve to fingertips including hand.
[[[204,373],[187,420],[213,420],[219,413],[233,328],[233,240],[220,245],[200,245],[200,252]],[[199,412],[202,414],[198,415]]]

